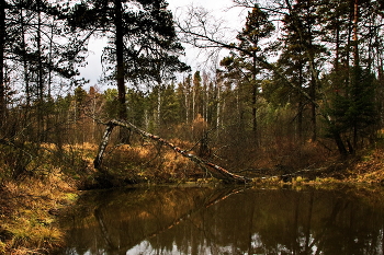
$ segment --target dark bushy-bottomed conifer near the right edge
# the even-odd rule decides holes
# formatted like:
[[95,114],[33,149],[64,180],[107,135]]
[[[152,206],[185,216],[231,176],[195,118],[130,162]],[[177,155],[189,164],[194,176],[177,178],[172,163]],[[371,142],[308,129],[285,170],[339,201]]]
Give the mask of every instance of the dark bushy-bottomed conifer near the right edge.
[[[328,135],[339,132],[339,144],[353,153],[372,137],[379,119],[375,103],[376,77],[373,72],[372,55],[369,53],[374,34],[361,30],[362,24],[372,22],[375,1],[331,1],[331,9],[324,8],[324,33],[326,42],[334,43],[329,76],[326,77],[329,113],[332,121]],[[377,19],[377,18],[375,18]],[[369,49],[369,50],[365,50]],[[342,149],[347,153],[347,149]]]

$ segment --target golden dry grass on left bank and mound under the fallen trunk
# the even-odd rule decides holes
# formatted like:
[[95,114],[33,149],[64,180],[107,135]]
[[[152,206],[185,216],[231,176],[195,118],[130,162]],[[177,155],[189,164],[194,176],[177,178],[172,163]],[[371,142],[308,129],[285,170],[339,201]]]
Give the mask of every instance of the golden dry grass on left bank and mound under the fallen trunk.
[[[44,143],[33,148],[33,160],[16,178],[12,166],[19,152],[12,149],[7,154],[7,149],[0,155],[0,254],[49,254],[63,245],[57,213],[77,200],[79,189],[97,182],[92,162],[98,146]],[[193,169],[189,160],[169,150],[158,151],[153,143],[110,147],[104,165],[116,185],[127,178],[151,183],[180,179]]]

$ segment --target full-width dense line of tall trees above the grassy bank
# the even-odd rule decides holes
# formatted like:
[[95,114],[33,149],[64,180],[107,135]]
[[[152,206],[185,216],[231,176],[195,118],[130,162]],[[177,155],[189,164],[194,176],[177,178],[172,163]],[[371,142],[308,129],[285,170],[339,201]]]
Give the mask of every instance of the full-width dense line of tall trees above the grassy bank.
[[[98,142],[99,121],[122,118],[199,141],[203,157],[255,167],[267,155],[301,161],[308,144],[347,155],[380,138],[381,1],[234,3],[249,10],[236,42],[211,33],[201,9],[179,24],[197,47],[230,49],[216,71],[191,72],[163,0],[0,1],[2,143],[25,157],[30,142]],[[109,39],[105,91],[77,79],[91,36]],[[129,134],[118,139],[132,142]]]

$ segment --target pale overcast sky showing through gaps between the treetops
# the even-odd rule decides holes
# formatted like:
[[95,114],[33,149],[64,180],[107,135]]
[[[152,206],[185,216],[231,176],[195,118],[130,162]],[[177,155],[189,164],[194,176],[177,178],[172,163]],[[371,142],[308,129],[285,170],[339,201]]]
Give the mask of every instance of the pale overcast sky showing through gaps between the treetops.
[[[236,31],[240,31],[245,23],[247,11],[241,8],[231,8],[231,0],[168,0],[168,9],[172,11],[174,19],[183,19],[189,8],[203,7],[210,11],[215,18],[223,20],[226,26],[231,28],[229,37],[236,38]],[[90,80],[89,85],[98,84],[98,80],[102,73],[100,62],[101,53],[106,44],[106,39],[91,38],[89,42],[89,54],[87,58],[88,65],[84,68],[79,68],[80,77]],[[193,71],[206,68],[206,54],[195,49],[190,45],[184,45],[185,56],[181,60],[191,66]],[[225,53],[222,53],[224,56]],[[98,84],[99,89],[104,90],[106,85]]]

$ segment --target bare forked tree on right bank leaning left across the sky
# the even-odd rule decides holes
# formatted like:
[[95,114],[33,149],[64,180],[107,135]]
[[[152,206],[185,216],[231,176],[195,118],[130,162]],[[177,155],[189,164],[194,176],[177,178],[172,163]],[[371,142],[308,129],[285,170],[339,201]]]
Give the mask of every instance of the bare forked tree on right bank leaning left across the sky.
[[[234,2],[235,7],[258,7],[257,0],[235,0]],[[314,88],[323,88],[321,81],[319,79],[319,72],[321,69],[316,67],[315,56],[310,48],[312,42],[307,40],[305,32],[300,25],[302,23],[302,18],[293,9],[292,1],[274,1],[272,4],[267,3],[266,5],[260,7],[260,9],[272,13],[271,19],[275,22],[281,22],[283,16],[290,16],[290,19],[292,20],[292,25],[295,27],[302,42],[303,51],[307,55]],[[229,50],[238,51],[245,56],[249,56],[250,58],[253,58],[255,62],[259,67],[273,72],[274,76],[279,77],[281,81],[283,81],[283,83],[302,94],[304,98],[306,98],[313,104],[314,108],[318,109],[321,107],[323,109],[329,107],[328,101],[323,91],[316,91],[316,93],[319,94],[319,100],[321,101],[319,103],[318,98],[314,97],[313,94],[309,94],[301,85],[291,82],[287,79],[287,77],[279,69],[279,67],[273,65],[273,62],[270,62],[267,55],[255,56],[252,50],[249,50],[248,48],[241,47],[238,44],[226,40],[224,36],[225,27],[222,26],[222,23],[216,22],[215,19],[213,19],[210,12],[207,12],[206,10],[202,8],[190,9],[187,18],[183,21],[178,21],[178,27],[180,33],[182,34],[182,40],[184,43],[189,43],[197,48],[226,48]],[[318,111],[318,113],[324,117],[327,125],[334,126],[334,119],[326,111]],[[340,134],[336,129],[332,130],[332,136],[340,153],[346,154],[347,150],[341,140]]]

